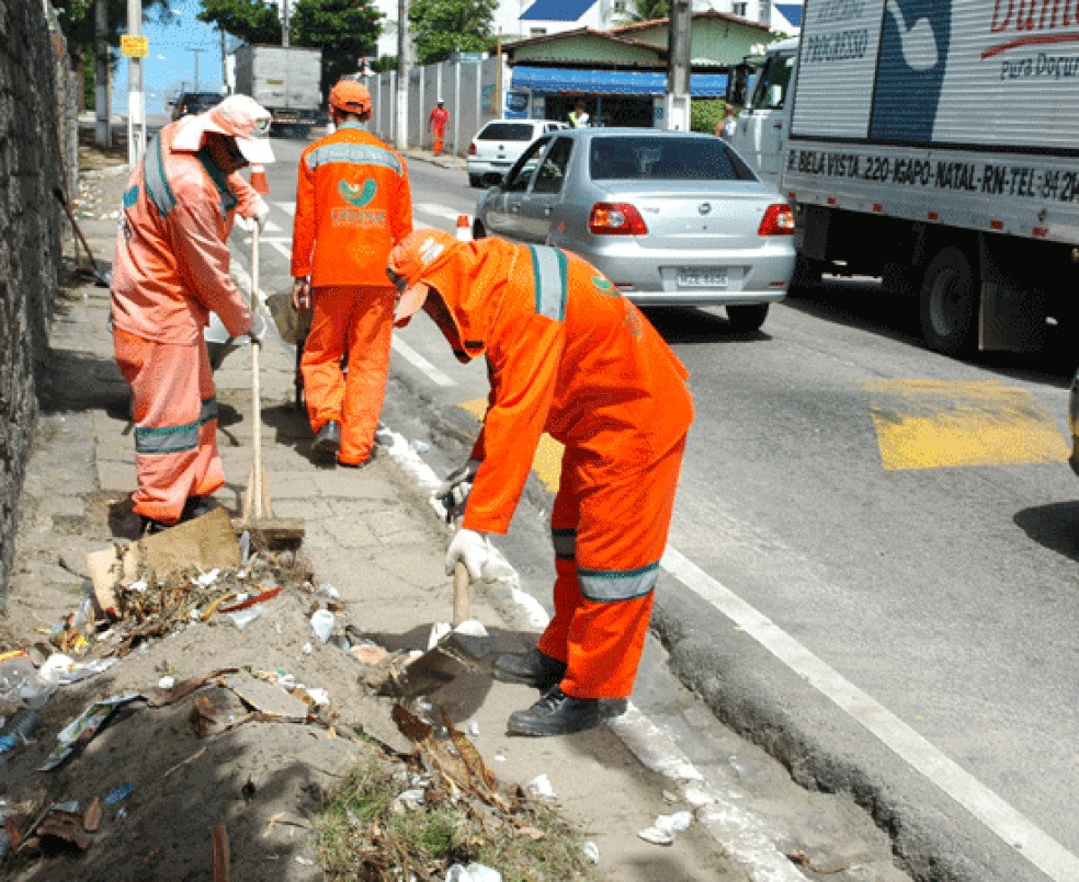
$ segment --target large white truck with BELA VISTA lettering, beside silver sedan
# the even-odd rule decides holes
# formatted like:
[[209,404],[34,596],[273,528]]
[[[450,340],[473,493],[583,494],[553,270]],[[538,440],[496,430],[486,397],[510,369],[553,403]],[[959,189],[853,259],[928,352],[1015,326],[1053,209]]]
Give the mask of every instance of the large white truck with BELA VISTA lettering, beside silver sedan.
[[795,208],[795,282],[877,276],[927,345],[1037,352],[1079,316],[1068,3],[806,0],[729,79],[735,148]]

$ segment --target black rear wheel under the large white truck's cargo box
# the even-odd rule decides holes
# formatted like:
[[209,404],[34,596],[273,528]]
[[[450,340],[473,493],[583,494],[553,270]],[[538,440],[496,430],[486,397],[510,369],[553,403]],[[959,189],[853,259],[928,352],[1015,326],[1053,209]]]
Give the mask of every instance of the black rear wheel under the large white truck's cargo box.
[[921,327],[925,345],[942,355],[959,356],[974,348],[978,299],[974,270],[958,248],[933,257],[921,288]]

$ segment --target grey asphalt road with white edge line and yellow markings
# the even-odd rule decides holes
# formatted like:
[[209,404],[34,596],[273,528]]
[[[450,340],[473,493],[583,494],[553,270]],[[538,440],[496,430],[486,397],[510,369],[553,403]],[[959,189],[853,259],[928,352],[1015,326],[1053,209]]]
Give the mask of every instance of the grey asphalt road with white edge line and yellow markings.
[[[303,146],[276,140],[268,169],[282,227]],[[474,210],[463,168],[410,173],[417,224]],[[272,260],[288,236],[265,233]],[[1079,879],[1075,346],[967,364],[924,350],[911,312],[830,279],[748,336],[722,310],[649,313],[697,410],[656,629],[722,720],[800,783],[853,792],[911,875]],[[413,322],[391,386],[388,417],[434,438],[436,470],[466,456],[481,365]],[[549,471],[500,542],[537,561],[537,597]]]

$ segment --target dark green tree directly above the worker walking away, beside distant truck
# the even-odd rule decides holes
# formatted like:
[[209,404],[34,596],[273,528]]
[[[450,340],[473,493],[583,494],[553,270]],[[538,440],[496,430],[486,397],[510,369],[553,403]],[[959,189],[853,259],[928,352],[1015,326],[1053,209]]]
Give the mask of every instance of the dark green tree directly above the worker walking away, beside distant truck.
[[368,0],[297,0],[292,35],[297,46],[322,50],[322,93],[347,73],[361,68],[360,59],[377,51],[383,13]]

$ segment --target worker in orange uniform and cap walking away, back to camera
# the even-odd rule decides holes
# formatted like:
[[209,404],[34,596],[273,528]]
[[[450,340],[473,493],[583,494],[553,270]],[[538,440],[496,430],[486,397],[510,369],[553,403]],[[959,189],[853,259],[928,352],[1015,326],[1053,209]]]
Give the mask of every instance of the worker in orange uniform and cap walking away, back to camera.
[[360,467],[371,459],[389,373],[395,291],[384,267],[412,229],[412,197],[400,153],[363,128],[363,83],[340,80],[330,116],[333,133],[299,158],[293,306],[313,307],[300,359],[313,454]]

